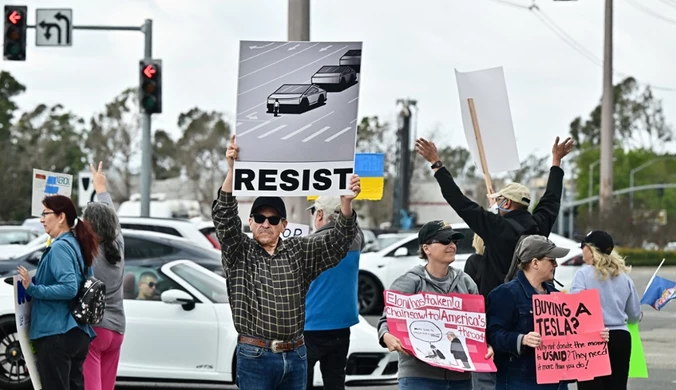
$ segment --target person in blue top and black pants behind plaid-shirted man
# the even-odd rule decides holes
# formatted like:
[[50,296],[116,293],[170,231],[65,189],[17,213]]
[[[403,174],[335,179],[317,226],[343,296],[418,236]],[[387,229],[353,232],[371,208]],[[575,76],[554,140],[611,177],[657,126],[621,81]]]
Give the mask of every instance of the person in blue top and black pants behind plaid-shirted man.
[[[336,227],[340,198],[320,196],[309,207],[314,236],[327,234]],[[324,271],[310,285],[305,300],[305,343],[308,351],[307,388],[313,389],[314,367],[319,362],[324,389],[345,389],[345,367],[350,349],[350,327],[359,323],[357,292],[359,256],[364,248],[364,233],[357,235],[347,256],[337,266]]]

